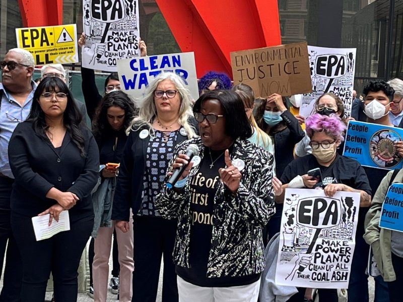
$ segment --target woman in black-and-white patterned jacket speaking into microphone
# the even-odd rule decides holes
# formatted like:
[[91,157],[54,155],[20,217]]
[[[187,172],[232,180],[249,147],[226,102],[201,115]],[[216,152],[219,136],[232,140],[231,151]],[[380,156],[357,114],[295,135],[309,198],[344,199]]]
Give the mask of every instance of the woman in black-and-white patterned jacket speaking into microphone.
[[[193,113],[200,137],[175,148],[167,171],[186,168],[155,200],[161,216],[178,219],[179,301],[256,301],[262,228],[274,213],[273,156],[247,140],[252,129],[235,92],[208,92]],[[199,152],[190,162],[192,144]]]

